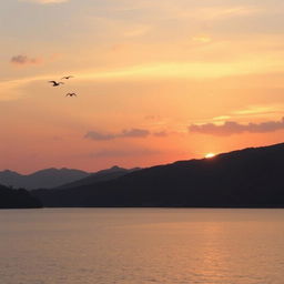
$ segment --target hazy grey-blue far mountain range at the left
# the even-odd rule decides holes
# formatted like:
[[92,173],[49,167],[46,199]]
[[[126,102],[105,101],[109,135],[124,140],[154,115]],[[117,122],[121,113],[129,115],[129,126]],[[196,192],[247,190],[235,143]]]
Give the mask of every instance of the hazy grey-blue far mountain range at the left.
[[70,169],[47,169],[29,175],[12,171],[0,172],[0,183],[7,186],[33,189],[51,189],[64,183],[87,178],[90,173]]

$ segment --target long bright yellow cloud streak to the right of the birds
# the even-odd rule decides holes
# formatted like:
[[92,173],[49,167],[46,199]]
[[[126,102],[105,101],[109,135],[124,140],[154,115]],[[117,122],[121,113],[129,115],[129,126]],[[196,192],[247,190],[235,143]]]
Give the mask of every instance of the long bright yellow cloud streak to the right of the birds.
[[233,75],[263,74],[283,72],[284,64],[277,60],[263,61],[251,58],[235,62],[162,62],[154,64],[133,65],[120,70],[82,73],[85,80],[108,80],[128,78],[224,78]]

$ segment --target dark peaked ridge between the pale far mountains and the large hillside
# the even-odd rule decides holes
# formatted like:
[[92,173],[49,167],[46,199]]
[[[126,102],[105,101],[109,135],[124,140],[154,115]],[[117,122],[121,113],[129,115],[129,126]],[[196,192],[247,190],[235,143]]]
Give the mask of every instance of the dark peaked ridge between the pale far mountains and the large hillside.
[[132,173],[135,171],[141,170],[140,168],[134,168],[134,169],[123,169],[119,168],[116,165],[112,166],[111,169],[102,170],[97,173],[92,173],[88,175],[87,178],[83,178],[81,180],[77,180],[71,183],[63,184],[61,186],[58,186],[58,190],[65,190],[65,189],[73,189],[73,187],[80,187],[80,186],[87,186],[87,185],[92,185],[97,182],[104,182],[104,181],[110,181],[118,179],[122,175],[125,175],[128,173]]

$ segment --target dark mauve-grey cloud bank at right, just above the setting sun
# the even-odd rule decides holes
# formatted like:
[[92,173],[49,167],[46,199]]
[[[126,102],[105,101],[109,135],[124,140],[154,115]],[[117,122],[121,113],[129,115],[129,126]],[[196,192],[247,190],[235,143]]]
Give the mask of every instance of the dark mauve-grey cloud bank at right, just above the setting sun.
[[201,133],[210,135],[232,135],[243,132],[250,133],[267,133],[278,130],[284,130],[284,118],[281,121],[266,121],[261,123],[240,124],[235,121],[226,121],[224,124],[217,125],[214,123],[192,124],[189,126],[191,133]]

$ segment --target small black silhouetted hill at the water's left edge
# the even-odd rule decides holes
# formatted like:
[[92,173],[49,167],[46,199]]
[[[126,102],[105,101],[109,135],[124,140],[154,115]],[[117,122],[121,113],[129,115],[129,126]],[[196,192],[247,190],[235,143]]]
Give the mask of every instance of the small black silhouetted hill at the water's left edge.
[[0,209],[38,209],[41,202],[26,190],[12,190],[0,185]]

